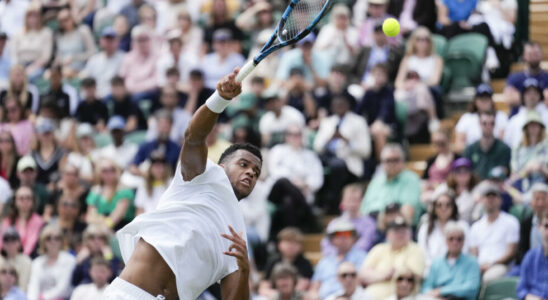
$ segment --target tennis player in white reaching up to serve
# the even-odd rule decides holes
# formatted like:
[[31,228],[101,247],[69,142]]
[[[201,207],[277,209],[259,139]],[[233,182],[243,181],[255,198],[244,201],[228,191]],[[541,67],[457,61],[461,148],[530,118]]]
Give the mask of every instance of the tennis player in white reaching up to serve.
[[205,142],[219,113],[241,92],[237,73],[235,69],[221,79],[192,117],[181,162],[157,210],[118,232],[126,267],[106,291],[107,299],[195,300],[218,281],[223,300],[249,299],[246,234],[238,200],[255,186],[261,153],[249,144],[235,144],[217,165],[207,160]]

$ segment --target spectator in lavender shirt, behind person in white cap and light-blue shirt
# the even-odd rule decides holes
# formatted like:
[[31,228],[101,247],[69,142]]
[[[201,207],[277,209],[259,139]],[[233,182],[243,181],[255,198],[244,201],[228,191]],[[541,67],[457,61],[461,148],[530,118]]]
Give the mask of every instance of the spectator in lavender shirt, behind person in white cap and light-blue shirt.
[[[327,227],[331,224],[338,222],[340,218],[346,218],[356,228],[358,233],[358,240],[354,245],[355,248],[361,249],[363,251],[369,251],[373,247],[375,242],[375,232],[377,230],[377,224],[375,219],[371,218],[368,215],[363,215],[360,212],[360,207],[362,204],[363,198],[363,186],[361,184],[349,184],[344,187],[341,200],[341,211],[342,214],[340,217],[333,219]],[[334,254],[336,249],[329,242],[329,239],[322,239],[322,254]]]

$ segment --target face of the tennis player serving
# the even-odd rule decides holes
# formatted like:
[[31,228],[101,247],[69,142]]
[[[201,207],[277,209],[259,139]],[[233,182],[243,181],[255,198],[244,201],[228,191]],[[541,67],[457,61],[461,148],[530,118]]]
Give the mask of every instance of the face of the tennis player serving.
[[261,160],[246,150],[237,150],[226,163],[221,164],[238,200],[247,197],[261,174]]

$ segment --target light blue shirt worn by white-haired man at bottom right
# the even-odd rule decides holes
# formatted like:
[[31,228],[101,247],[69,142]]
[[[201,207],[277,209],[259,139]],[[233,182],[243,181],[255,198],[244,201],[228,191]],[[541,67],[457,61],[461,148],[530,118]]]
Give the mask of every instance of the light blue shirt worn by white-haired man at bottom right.
[[449,295],[475,300],[481,283],[481,271],[475,257],[461,254],[454,265],[446,257],[440,257],[432,263],[428,277],[422,285],[422,292],[440,289],[441,295]]

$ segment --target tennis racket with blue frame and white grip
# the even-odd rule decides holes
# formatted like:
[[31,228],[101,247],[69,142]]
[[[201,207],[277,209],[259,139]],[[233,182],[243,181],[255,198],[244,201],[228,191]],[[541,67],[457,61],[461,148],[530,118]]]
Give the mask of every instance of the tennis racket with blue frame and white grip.
[[272,36],[252,60],[236,75],[236,81],[244,80],[269,54],[303,39],[326,14],[331,0],[291,0]]

